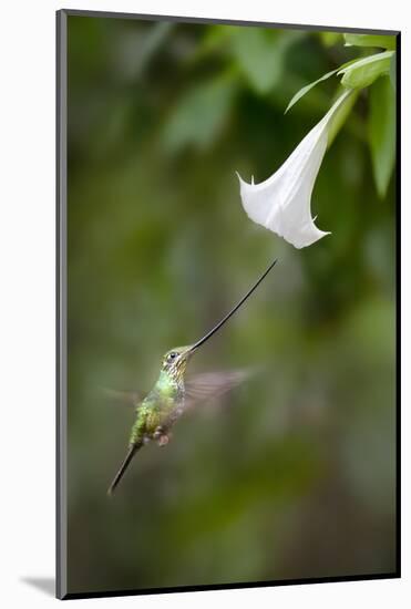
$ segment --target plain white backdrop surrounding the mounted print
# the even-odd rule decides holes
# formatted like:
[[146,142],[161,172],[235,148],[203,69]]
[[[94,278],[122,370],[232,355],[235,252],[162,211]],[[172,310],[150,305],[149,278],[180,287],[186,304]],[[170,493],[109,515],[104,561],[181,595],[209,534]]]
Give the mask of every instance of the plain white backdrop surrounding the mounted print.
[[[54,49],[60,8],[402,30],[402,226],[410,226],[410,72],[407,2],[345,0],[253,2],[207,0],[24,0],[1,7],[0,214],[0,601],[43,607],[56,601],[28,582],[54,575]],[[405,136],[408,141],[405,142]],[[410,239],[403,231],[403,344],[410,337]],[[403,578],[79,600],[104,607],[405,607],[410,586],[410,370],[403,349]],[[408,374],[407,374],[408,369]],[[405,484],[407,483],[407,484]],[[330,540],[330,543],[332,543]],[[411,596],[411,595],[410,595]]]

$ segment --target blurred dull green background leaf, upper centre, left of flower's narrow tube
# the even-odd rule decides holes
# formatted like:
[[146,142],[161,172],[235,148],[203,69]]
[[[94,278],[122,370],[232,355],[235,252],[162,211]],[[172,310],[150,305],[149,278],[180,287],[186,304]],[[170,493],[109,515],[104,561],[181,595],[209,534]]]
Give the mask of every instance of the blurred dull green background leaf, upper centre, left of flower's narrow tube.
[[236,83],[224,75],[188,90],[172,111],[163,133],[168,152],[186,145],[207,148],[223,130],[236,92]]

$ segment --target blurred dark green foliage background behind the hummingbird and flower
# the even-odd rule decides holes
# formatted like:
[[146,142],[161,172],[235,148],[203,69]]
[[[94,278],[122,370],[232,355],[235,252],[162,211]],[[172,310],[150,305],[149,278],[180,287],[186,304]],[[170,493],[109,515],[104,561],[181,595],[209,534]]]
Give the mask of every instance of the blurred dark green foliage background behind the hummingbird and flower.
[[[314,190],[331,230],[296,250],[244,213],[358,56],[340,34],[69,17],[69,591],[395,569],[394,180],[381,198],[368,91]],[[192,371],[260,364],[135,458],[163,353],[274,272]]]

